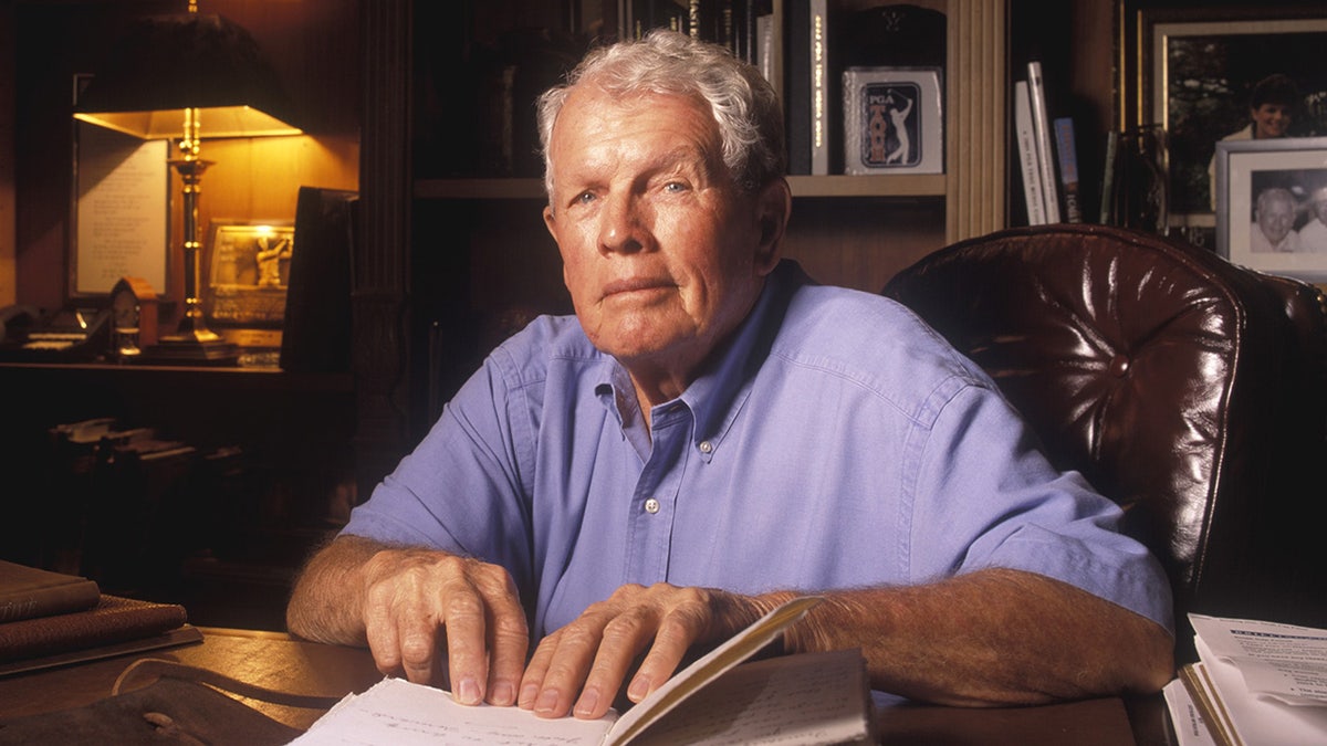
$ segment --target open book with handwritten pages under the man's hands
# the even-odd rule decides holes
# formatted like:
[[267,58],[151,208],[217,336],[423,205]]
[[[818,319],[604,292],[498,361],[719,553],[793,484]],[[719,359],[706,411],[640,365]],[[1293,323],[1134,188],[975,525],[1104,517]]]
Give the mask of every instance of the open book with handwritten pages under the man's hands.
[[519,708],[458,705],[439,689],[387,678],[348,696],[295,743],[873,743],[860,652],[738,665],[819,601],[800,597],[774,609],[621,715],[547,719]]

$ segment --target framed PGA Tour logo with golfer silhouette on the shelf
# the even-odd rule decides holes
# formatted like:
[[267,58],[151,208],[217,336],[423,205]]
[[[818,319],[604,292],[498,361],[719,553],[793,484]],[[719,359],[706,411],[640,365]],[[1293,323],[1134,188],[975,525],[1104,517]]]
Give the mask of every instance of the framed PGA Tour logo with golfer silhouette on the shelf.
[[848,68],[843,73],[845,174],[943,174],[938,68]]

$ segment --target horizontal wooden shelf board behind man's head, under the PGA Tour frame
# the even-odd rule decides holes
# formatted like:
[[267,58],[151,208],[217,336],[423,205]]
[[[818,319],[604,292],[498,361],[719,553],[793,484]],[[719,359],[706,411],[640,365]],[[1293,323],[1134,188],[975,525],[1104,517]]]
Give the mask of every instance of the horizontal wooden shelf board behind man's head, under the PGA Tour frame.
[[[943,174],[900,177],[788,177],[792,196],[945,196]],[[540,179],[419,179],[418,199],[544,199]]]

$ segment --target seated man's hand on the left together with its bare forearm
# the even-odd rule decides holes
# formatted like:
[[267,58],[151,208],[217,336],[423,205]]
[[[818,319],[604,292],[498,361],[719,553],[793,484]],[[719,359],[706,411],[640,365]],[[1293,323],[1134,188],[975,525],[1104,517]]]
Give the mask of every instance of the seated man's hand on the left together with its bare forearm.
[[417,684],[443,684],[446,662],[453,696],[466,705],[514,705],[529,648],[502,567],[353,536],[309,563],[287,621],[311,640],[368,642],[378,670]]

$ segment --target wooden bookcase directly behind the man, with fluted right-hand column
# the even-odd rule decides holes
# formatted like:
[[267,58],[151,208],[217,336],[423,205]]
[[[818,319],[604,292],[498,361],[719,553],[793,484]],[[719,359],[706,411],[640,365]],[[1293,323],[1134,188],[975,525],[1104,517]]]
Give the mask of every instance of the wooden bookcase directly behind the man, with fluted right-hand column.
[[[792,1],[770,4],[775,35]],[[881,4],[831,3],[835,12]],[[921,256],[1005,226],[1009,3],[917,3],[946,17],[945,173],[790,178],[788,258],[820,281],[878,292]],[[523,53],[565,53],[559,36],[528,29],[589,36],[617,29],[628,12],[618,0],[365,4],[361,235],[377,251],[361,255],[356,275],[361,486],[426,431],[437,402],[495,340],[494,319],[514,307],[571,309],[540,218],[537,162],[511,173],[458,163],[488,135],[460,115],[480,108],[455,50],[511,32]],[[778,56],[772,68],[779,80]]]

